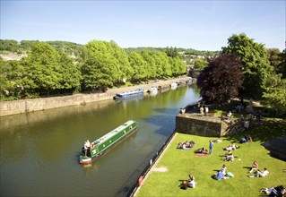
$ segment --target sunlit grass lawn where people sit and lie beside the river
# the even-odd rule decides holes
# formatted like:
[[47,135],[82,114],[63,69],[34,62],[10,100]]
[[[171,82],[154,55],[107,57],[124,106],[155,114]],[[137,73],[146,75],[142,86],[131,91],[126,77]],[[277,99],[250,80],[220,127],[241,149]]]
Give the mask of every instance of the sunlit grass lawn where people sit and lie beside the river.
[[[205,157],[195,156],[194,151],[201,147],[209,149],[209,141],[217,138],[177,133],[153,167],[166,167],[167,171],[149,173],[136,196],[259,196],[263,187],[286,186],[286,162],[272,158],[269,150],[261,145],[264,141],[286,135],[285,128],[285,119],[264,118],[262,124],[254,124],[247,131],[221,138],[221,143],[214,143],[212,155]],[[252,136],[253,142],[239,144],[238,141],[246,134]],[[191,140],[195,141],[192,150],[177,149],[179,141]],[[237,158],[232,162],[223,161],[221,156],[226,151],[222,148],[234,142],[240,146],[240,149],[232,151]],[[270,175],[249,178],[247,171],[254,160],[261,170],[267,167]],[[221,181],[213,179],[212,176],[221,170],[223,164],[234,177]],[[189,174],[195,176],[196,188],[180,189],[182,180],[186,180]]]

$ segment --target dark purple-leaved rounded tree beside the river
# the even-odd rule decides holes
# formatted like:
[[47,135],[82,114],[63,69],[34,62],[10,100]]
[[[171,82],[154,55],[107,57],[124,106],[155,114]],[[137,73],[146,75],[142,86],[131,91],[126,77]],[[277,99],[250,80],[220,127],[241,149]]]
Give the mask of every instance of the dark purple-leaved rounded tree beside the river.
[[206,104],[223,104],[238,96],[242,86],[241,66],[238,56],[231,54],[209,60],[196,82]]

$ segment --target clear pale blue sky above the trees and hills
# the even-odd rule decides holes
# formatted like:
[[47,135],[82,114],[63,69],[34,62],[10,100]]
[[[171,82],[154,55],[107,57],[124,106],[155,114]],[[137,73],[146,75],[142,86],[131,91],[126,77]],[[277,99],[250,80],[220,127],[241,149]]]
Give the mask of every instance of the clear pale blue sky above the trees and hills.
[[22,1],[1,0],[1,39],[114,40],[119,47],[221,50],[246,33],[285,48],[285,0]]

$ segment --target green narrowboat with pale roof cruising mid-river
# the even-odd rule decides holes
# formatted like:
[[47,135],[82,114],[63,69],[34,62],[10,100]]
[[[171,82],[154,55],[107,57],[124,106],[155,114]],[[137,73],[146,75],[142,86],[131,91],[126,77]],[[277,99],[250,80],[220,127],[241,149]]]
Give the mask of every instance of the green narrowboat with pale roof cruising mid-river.
[[85,156],[84,147],[82,148],[82,154],[80,156],[81,164],[90,164],[92,158],[100,157],[106,150],[111,148],[117,142],[122,141],[131,133],[134,133],[138,129],[138,124],[134,120],[129,120],[125,124],[121,124],[116,129],[103,135],[100,139],[91,142],[91,147],[87,150]]

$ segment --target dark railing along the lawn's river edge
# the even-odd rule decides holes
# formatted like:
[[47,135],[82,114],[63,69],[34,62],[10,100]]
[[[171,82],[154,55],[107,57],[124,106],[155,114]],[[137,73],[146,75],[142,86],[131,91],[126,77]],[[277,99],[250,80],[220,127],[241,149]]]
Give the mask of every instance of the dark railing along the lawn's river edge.
[[139,184],[141,184],[141,181],[143,181],[143,178],[150,172],[152,166],[154,165],[156,160],[158,158],[160,158],[160,155],[166,149],[166,147],[169,145],[169,142],[173,139],[174,135],[175,135],[175,131],[173,133],[171,133],[171,135],[169,136],[167,141],[165,141],[165,143],[160,147],[160,150],[158,150],[156,152],[156,154],[152,157],[152,159],[150,159],[149,164],[143,169],[140,176],[138,176],[136,182],[130,187],[128,193],[126,193],[126,196],[128,196],[128,197],[134,196],[134,193],[137,191],[138,187],[140,186]]

